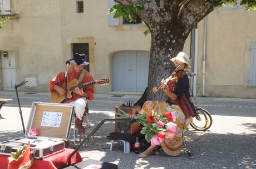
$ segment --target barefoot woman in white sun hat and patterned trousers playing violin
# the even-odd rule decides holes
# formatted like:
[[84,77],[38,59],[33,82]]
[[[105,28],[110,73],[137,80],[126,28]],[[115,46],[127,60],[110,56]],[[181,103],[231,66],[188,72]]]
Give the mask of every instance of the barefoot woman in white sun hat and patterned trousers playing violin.
[[[190,69],[191,66],[188,63],[189,56],[184,52],[180,52],[176,57],[170,59],[176,69],[176,79],[170,80],[168,85],[164,85],[166,79],[161,81],[163,86],[161,91],[164,91],[168,95],[166,102],[164,101],[146,101],[142,106],[140,114],[151,115],[155,112],[164,114],[165,112],[175,112],[176,131],[173,139],[165,137],[162,148],[167,155],[178,156],[181,153],[181,145],[183,143],[183,134],[186,127],[190,124],[191,116],[194,116],[196,110],[190,101],[189,93],[189,78],[186,75],[184,69]],[[157,88],[153,88],[155,93]],[[151,155],[151,152],[155,150],[156,145],[151,146],[144,152],[139,154],[140,158],[144,158]]]

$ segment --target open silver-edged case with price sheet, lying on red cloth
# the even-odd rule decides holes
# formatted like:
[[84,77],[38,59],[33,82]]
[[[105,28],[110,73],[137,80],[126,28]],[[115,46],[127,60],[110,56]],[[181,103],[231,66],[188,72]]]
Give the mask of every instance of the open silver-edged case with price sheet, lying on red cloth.
[[[23,137],[0,143],[0,154],[11,155],[30,141],[32,155],[42,159],[67,147],[74,106],[71,104],[33,103]],[[32,129],[38,134],[31,135]]]

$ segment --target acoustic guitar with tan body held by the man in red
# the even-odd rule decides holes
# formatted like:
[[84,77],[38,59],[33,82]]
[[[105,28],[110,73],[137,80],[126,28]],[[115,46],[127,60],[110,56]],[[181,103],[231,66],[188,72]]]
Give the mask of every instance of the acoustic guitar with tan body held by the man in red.
[[[69,83],[67,83],[67,99],[72,98],[72,91],[75,90],[76,87],[81,89],[93,84],[107,84],[107,83],[109,83],[109,79],[99,79],[99,80],[90,81],[88,83],[78,85],[78,80],[73,79]],[[65,89],[65,83],[62,83],[60,86],[61,88]],[[56,90],[51,92],[52,103],[62,103],[63,100],[65,100],[65,95],[60,95]]]

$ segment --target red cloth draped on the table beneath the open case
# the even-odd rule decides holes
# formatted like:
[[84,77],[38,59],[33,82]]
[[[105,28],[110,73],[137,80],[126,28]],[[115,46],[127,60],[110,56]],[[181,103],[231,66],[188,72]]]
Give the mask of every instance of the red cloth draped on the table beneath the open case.
[[[43,158],[42,160],[34,159],[34,163],[29,169],[57,169],[63,168],[68,165],[68,157],[74,150],[71,148],[65,148],[65,151],[52,155],[50,157]],[[0,169],[8,168],[8,157],[7,155],[0,155]],[[71,158],[71,163],[78,163],[82,161],[82,157],[79,152]]]

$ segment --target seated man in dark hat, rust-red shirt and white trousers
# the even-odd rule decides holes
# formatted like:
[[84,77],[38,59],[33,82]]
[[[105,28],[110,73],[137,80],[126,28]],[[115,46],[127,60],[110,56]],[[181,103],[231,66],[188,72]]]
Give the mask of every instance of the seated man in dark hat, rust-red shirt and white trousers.
[[[74,58],[70,59],[70,62],[73,64],[73,66],[68,68],[67,84],[73,79],[77,79],[77,80],[80,79],[81,84],[93,81],[92,75],[88,71],[83,69],[84,65],[89,64],[88,62],[85,62],[85,54],[76,53]],[[82,77],[82,74],[83,74],[82,70],[85,71],[83,77]],[[81,78],[80,78],[80,74],[81,74]],[[61,87],[61,84],[63,86],[64,82],[65,82],[65,70],[58,73],[55,76],[55,78],[49,81],[50,91],[51,92],[57,91],[58,94],[64,95],[64,98],[65,98],[65,87],[64,88]],[[82,126],[82,118],[83,118],[83,113],[85,112],[85,106],[88,105],[87,99],[93,100],[93,93],[94,93],[94,85],[89,85],[81,89],[76,87],[72,91],[72,97],[67,99],[67,103],[75,105],[76,127],[80,135],[85,133],[85,129]]]

